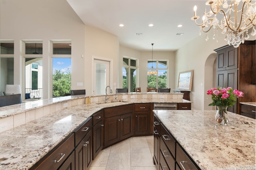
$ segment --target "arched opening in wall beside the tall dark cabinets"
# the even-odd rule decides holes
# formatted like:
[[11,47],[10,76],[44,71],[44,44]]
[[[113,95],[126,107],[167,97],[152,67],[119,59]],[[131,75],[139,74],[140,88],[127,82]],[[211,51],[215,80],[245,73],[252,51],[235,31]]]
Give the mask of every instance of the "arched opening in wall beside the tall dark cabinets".
[[217,53],[212,53],[207,57],[204,65],[204,110],[215,110],[214,106],[208,106],[212,103],[212,98],[206,92],[216,86],[216,59]]

